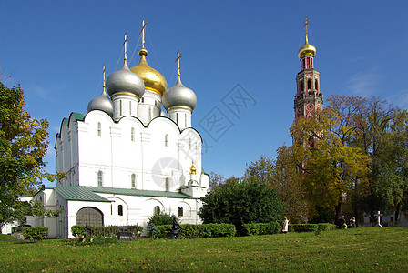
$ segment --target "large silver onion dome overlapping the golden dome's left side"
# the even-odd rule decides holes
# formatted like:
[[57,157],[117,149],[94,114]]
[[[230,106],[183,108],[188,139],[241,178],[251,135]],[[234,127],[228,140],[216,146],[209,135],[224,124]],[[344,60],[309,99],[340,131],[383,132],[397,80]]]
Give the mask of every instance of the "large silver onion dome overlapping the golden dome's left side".
[[145,94],[145,84],[137,74],[129,70],[125,62],[122,68],[107,77],[107,94],[113,96],[118,92],[126,92],[142,97]]

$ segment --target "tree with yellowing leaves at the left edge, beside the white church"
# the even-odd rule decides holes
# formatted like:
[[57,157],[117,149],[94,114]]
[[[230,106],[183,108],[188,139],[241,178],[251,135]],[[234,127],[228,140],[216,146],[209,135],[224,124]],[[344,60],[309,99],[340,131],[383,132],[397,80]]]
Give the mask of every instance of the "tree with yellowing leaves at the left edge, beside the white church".
[[0,227],[30,213],[20,196],[36,192],[43,178],[54,180],[44,171],[48,122],[31,119],[24,106],[19,86],[0,83]]

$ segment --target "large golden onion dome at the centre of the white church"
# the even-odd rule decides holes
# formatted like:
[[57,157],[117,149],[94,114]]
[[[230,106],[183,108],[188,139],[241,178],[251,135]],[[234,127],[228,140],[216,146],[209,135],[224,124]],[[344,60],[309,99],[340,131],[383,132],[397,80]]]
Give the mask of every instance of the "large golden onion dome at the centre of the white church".
[[133,66],[130,71],[138,74],[145,83],[145,88],[154,92],[157,92],[160,96],[163,96],[164,92],[168,89],[168,83],[164,76],[162,76],[156,69],[148,66],[146,56],[148,56],[148,50],[141,48],[138,51],[140,55],[140,62],[138,66]]

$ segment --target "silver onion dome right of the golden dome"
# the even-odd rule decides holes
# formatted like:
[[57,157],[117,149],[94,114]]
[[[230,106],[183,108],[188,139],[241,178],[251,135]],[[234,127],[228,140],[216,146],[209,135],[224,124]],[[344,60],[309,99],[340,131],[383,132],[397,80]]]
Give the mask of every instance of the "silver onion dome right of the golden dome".
[[183,86],[179,77],[176,85],[169,88],[163,95],[162,102],[166,110],[175,106],[185,106],[192,111],[197,106],[197,96],[193,90]]

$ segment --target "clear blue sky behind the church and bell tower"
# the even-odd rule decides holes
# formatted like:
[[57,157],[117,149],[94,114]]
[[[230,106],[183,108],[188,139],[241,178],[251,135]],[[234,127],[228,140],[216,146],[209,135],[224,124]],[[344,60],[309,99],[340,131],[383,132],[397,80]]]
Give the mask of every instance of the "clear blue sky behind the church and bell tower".
[[[104,64],[107,75],[120,68],[125,32],[129,58],[136,50],[130,66],[138,64],[146,18],[148,63],[169,87],[176,83],[177,50],[182,54],[183,84],[198,97],[193,126],[206,141],[203,167],[240,177],[260,155],[291,144],[305,16],[324,98],[381,96],[407,109],[407,14],[406,1],[4,0],[0,67],[7,86],[25,90],[31,116],[50,122],[46,169],[55,172],[62,118],[87,112],[102,90]],[[236,92],[249,98],[240,113],[223,103]],[[227,123],[211,137],[203,127],[215,114]]]

